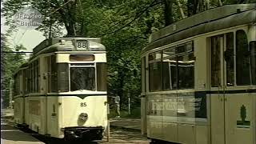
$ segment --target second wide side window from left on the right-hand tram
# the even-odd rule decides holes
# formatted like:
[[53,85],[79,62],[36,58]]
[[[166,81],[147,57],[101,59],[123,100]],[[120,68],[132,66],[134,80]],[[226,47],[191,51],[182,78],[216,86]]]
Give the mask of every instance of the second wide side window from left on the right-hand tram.
[[178,88],[177,61],[174,47],[162,51],[162,80],[163,90]]

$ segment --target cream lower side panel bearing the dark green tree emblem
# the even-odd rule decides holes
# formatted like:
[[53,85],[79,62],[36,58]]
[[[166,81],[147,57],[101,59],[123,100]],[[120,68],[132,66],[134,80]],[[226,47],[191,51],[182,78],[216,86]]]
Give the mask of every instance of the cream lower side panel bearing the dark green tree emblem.
[[255,93],[226,94],[226,143],[254,143]]

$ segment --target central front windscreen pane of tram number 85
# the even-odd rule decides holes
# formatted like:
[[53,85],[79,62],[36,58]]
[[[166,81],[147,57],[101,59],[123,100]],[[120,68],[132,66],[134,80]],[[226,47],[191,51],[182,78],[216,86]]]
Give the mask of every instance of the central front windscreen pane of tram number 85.
[[70,67],[70,91],[95,90],[94,67]]

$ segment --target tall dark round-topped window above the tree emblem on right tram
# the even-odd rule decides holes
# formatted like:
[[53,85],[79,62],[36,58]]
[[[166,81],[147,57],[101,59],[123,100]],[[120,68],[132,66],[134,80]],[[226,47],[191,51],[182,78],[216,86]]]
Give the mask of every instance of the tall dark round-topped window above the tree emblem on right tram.
[[250,52],[246,32],[236,32],[236,79],[238,86],[250,85]]

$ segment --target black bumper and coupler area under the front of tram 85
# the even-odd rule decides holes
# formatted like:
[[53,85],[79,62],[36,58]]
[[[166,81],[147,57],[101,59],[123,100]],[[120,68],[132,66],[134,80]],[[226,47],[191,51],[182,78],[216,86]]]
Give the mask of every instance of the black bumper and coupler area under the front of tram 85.
[[66,140],[101,140],[103,138],[103,126],[95,127],[66,127],[64,128],[64,138]]

